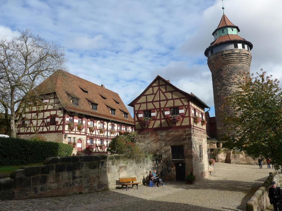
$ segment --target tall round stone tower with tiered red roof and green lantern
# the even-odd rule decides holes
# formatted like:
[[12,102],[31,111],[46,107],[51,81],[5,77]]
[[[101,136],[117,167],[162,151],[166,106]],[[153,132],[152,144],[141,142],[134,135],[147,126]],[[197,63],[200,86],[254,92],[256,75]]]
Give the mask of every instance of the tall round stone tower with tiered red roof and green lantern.
[[[212,35],[214,41],[205,50],[208,57],[208,66],[213,82],[213,100],[215,106],[215,121],[217,138],[230,132],[224,127],[224,117],[219,116],[219,108],[224,103],[224,98],[238,90],[238,82],[243,82],[242,75],[250,76],[250,65],[253,45],[241,38],[239,27],[231,23],[226,15],[222,15],[221,21]],[[235,105],[226,107],[226,112],[235,114]]]

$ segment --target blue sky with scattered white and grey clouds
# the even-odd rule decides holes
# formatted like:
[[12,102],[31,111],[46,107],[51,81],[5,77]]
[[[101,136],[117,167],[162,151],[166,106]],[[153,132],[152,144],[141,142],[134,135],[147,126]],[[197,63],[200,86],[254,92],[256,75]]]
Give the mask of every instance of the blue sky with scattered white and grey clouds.
[[[69,72],[104,84],[129,104],[160,75],[192,92],[214,116],[204,56],[222,17],[221,0],[0,0],[0,35],[30,28],[65,47]],[[282,80],[281,0],[224,0],[224,14],[252,42],[251,73]],[[133,115],[133,108],[127,106]],[[207,109],[206,109],[207,110]]]

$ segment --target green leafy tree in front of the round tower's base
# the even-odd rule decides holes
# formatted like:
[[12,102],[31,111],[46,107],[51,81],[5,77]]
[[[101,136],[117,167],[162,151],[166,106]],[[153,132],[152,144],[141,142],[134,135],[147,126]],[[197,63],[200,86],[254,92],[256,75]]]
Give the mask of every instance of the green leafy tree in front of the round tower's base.
[[[262,71],[262,69],[261,69]],[[254,77],[243,77],[235,92],[222,105],[225,125],[230,134],[224,135],[224,147],[246,152],[249,156],[270,158],[277,168],[282,166],[282,91],[279,81],[266,76],[266,72]],[[237,105],[235,114],[228,115],[226,107]],[[235,132],[235,133],[233,133]],[[235,135],[234,135],[235,134]]]

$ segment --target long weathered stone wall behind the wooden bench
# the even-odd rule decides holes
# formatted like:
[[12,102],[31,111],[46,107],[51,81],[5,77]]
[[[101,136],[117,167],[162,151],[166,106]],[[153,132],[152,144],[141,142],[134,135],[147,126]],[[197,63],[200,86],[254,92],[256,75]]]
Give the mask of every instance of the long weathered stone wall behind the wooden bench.
[[119,177],[145,183],[149,170],[163,168],[160,154],[139,159],[125,155],[80,155],[47,158],[41,166],[14,170],[0,179],[0,200],[68,196],[114,189]]

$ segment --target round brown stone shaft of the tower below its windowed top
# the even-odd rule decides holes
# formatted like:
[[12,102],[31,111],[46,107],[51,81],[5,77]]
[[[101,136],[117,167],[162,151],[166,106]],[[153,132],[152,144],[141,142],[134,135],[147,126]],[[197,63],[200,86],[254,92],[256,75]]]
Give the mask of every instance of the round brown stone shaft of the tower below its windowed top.
[[[224,97],[230,96],[238,90],[238,83],[244,82],[241,75],[250,76],[252,55],[244,49],[232,49],[220,51],[208,58],[208,66],[213,81],[213,99],[215,105],[215,121],[217,137],[224,133],[230,133],[223,126],[224,117],[219,116],[219,108],[225,102]],[[226,107],[229,114],[235,113],[235,105]]]

